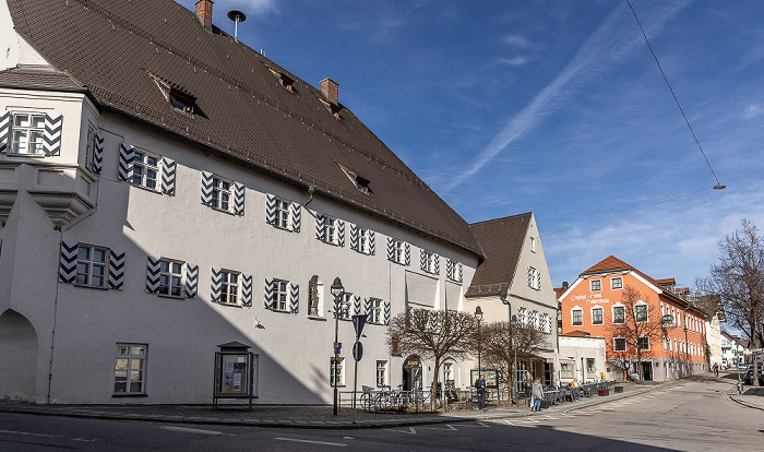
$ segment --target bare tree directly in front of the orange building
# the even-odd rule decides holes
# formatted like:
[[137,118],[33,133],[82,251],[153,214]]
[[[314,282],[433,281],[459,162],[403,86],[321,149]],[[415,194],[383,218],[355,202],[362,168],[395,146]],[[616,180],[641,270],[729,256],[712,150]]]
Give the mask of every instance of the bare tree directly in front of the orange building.
[[645,380],[642,358],[653,356],[653,347],[666,336],[658,308],[643,300],[642,293],[625,286],[621,293],[623,322],[612,322],[606,326],[609,336],[623,341],[623,348],[619,350],[614,348],[613,343],[607,345],[611,361],[625,370],[629,362],[633,361],[633,350],[636,350],[636,371],[641,382]]

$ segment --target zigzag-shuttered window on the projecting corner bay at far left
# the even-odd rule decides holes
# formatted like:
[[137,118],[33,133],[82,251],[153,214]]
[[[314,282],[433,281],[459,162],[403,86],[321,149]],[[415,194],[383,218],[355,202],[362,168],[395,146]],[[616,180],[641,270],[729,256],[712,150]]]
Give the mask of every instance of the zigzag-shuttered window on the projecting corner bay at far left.
[[61,115],[5,111],[0,115],[0,152],[53,156],[61,153]]

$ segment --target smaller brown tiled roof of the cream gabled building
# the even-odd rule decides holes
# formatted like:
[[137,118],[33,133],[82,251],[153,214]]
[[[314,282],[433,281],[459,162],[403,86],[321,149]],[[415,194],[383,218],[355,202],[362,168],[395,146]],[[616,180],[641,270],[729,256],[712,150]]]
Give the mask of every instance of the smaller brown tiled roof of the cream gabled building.
[[475,271],[465,296],[496,295],[509,289],[532,217],[533,212],[528,212],[471,225],[487,259]]

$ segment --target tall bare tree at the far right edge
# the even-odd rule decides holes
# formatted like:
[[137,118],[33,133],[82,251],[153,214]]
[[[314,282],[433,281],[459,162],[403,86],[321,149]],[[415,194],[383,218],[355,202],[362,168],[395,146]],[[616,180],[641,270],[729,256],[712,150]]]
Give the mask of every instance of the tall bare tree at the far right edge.
[[[740,229],[719,240],[719,262],[711,274],[695,285],[704,294],[721,300],[727,321],[751,341],[751,348],[764,344],[764,236],[748,219]],[[757,366],[753,366],[753,384],[759,385]]]

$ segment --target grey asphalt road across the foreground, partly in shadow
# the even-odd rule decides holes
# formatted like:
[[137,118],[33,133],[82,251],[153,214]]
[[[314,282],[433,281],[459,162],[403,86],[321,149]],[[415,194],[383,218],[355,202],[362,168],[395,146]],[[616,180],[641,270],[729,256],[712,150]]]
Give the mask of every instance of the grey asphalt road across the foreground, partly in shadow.
[[694,380],[583,411],[379,430],[299,430],[0,414],[0,451],[764,451],[764,412]]

